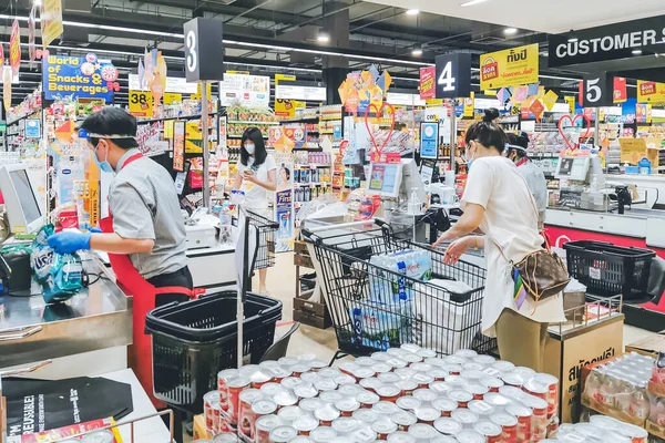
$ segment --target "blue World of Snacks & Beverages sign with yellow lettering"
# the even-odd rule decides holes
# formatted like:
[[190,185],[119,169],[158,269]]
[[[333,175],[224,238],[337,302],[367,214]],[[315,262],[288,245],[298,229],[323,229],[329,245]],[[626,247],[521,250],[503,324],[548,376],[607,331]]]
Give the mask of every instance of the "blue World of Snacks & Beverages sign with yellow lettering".
[[45,100],[72,99],[113,100],[117,91],[117,69],[109,62],[101,63],[95,54],[84,58],[49,55],[42,61],[42,83]]

